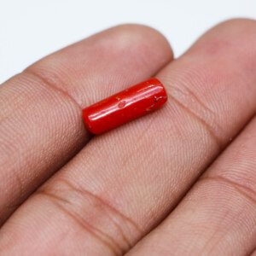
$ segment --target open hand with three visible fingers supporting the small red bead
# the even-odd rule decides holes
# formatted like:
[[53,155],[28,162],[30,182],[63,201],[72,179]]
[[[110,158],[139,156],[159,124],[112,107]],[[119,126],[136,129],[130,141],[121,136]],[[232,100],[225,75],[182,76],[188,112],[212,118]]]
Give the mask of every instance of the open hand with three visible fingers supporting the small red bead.
[[[96,59],[94,52],[99,52]],[[89,141],[80,107],[159,69],[156,77],[169,96],[158,112],[90,139],[26,200],[0,230],[3,255],[121,255],[136,243],[130,252],[134,255],[253,253],[256,22],[224,22],[166,65],[171,53],[152,29],[119,26],[39,61],[3,85],[0,134],[9,132],[8,140],[1,138],[3,220],[59,168],[61,155],[63,165],[84,146],[77,146],[82,138]],[[106,68],[117,57],[118,63]],[[103,78],[109,72],[119,77],[110,75],[106,84]],[[132,81],[127,79],[131,73],[137,76]],[[16,84],[24,96],[18,97]],[[35,99],[40,101],[34,102],[33,114]],[[41,131],[42,113],[46,119]],[[26,136],[27,126],[31,136]],[[14,137],[16,127],[20,133]],[[6,148],[15,152],[16,161],[9,160]],[[12,207],[6,207],[9,202]]]

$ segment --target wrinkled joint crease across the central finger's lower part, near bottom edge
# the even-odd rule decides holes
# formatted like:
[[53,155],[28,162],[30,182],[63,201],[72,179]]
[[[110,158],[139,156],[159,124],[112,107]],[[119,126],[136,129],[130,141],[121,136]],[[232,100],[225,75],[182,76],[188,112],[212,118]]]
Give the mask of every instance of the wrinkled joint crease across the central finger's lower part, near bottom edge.
[[[38,194],[46,195],[48,198],[54,201],[55,205],[57,205],[62,212],[65,212],[65,214],[79,224],[83,230],[88,231],[98,241],[105,244],[114,255],[121,255],[131,248],[134,242],[131,241],[131,239],[129,239],[129,237],[125,234],[125,230],[120,226],[119,221],[122,220],[124,224],[126,223],[128,226],[130,225],[133,230],[139,230],[137,224],[135,224],[130,218],[127,218],[121,212],[117,211],[115,208],[109,206],[106,201],[103,201],[102,198],[92,194],[90,191],[77,188],[77,186],[74,186],[72,183],[69,181],[67,182],[64,179],[59,180],[59,182],[64,184],[68,191],[75,193],[75,195],[78,196],[78,200],[69,201],[67,198],[63,198],[64,196],[57,195],[57,192],[60,191],[60,189],[51,189],[50,191],[49,188],[40,189],[38,190]],[[65,191],[65,195],[68,195],[67,191]],[[99,213],[101,214],[100,218],[107,217],[109,220],[108,223],[112,224],[114,229],[117,230],[119,234],[118,236],[121,238],[122,242],[116,241],[116,238],[113,235],[109,235],[106,233],[106,231],[102,231],[102,228],[96,227],[96,225],[99,223],[98,221],[91,224],[90,217],[86,217],[86,214],[84,213],[81,214],[81,212],[84,212],[83,209],[76,208],[77,206],[73,203],[74,201],[79,201],[79,199],[83,200],[81,204],[84,202],[84,207],[87,208],[87,211],[88,205],[86,201],[88,201],[90,205],[94,207],[92,211],[96,211],[96,217]],[[101,212],[97,212],[99,210],[101,210]]]

